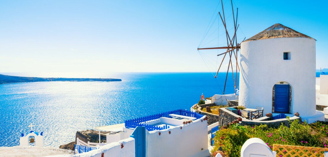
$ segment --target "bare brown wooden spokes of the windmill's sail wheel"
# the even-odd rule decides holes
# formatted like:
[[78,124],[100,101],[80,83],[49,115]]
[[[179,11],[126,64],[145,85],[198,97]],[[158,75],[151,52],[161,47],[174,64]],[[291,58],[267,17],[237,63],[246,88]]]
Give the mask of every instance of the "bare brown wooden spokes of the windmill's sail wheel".
[[[239,71],[239,66],[238,66],[238,61],[237,61],[237,55],[238,55],[238,51],[240,49],[240,44],[237,43],[237,30],[238,30],[238,27],[239,25],[237,25],[237,18],[238,18],[238,8],[236,9],[236,18],[235,18],[235,11],[234,11],[234,7],[233,7],[233,2],[231,0],[231,9],[232,9],[232,15],[233,15],[233,19],[234,19],[234,32],[233,34],[229,34],[228,32],[228,29],[227,29],[227,23],[226,23],[226,17],[225,17],[225,14],[224,14],[224,8],[223,8],[223,3],[222,3],[222,0],[221,0],[221,5],[222,5],[222,15],[220,12],[218,12],[218,15],[220,16],[220,19],[222,21],[222,24],[224,26],[224,29],[225,29],[225,34],[226,34],[226,42],[227,42],[227,45],[226,46],[223,46],[223,47],[207,47],[207,48],[197,48],[197,50],[207,50],[207,49],[226,49],[226,52],[224,53],[221,53],[221,54],[218,54],[217,56],[221,56],[223,55],[223,58],[222,58],[222,61],[220,63],[220,66],[219,68],[217,69],[217,72],[215,74],[215,78],[217,77],[217,74],[221,68],[221,65],[223,63],[223,61],[227,58],[229,59],[229,64],[228,64],[228,70],[227,70],[227,74],[226,74],[226,78],[225,78],[225,83],[224,83],[224,89],[223,89],[223,95],[224,95],[224,92],[225,92],[225,89],[226,89],[226,84],[227,84],[227,79],[228,79],[228,72],[231,68],[232,70],[232,74],[233,74],[233,80],[234,80],[234,86],[235,86],[235,94],[236,94],[236,86],[237,86],[237,69]],[[223,17],[222,17],[223,16]],[[245,40],[245,38],[244,38]],[[227,56],[227,54],[229,54]],[[236,60],[236,68],[235,68],[235,71],[234,71],[234,66],[232,64],[232,60]],[[234,72],[236,72],[234,74]]]

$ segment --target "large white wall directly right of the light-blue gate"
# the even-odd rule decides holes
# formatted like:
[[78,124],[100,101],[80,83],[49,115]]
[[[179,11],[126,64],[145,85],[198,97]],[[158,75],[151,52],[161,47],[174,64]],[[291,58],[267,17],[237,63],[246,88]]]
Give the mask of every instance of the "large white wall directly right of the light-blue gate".
[[[203,116],[201,119],[205,117]],[[166,130],[146,131],[146,156],[210,156],[207,139],[207,121],[201,121],[201,119],[197,119],[188,125],[172,127]],[[169,134],[169,131],[171,131],[171,134]],[[158,134],[159,132],[161,133],[160,135]]]

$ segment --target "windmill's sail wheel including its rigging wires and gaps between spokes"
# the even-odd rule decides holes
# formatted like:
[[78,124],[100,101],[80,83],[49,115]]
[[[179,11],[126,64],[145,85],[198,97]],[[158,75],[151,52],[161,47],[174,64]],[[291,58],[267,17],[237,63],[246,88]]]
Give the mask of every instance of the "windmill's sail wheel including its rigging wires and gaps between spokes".
[[[226,85],[227,85],[227,79],[228,79],[228,73],[229,71],[232,72],[232,78],[233,79],[233,82],[234,82],[234,87],[235,87],[235,94],[236,94],[236,87],[237,87],[237,72],[239,71],[239,65],[238,65],[238,51],[240,50],[240,44],[237,42],[238,38],[237,38],[237,30],[239,29],[239,25],[237,24],[237,19],[238,19],[238,8],[234,9],[234,5],[233,5],[233,1],[230,0],[231,2],[231,8],[229,10],[231,10],[231,14],[230,15],[226,15],[225,12],[224,12],[224,5],[227,4],[227,1],[225,3],[222,2],[222,0],[220,1],[220,3],[218,4],[218,6],[220,5],[221,6],[221,11],[219,11],[217,14],[216,14],[216,18],[215,19],[218,19],[218,28],[216,29],[217,32],[218,32],[218,37],[220,36],[220,33],[219,33],[219,29],[223,29],[223,32],[221,35],[222,36],[225,36],[225,39],[223,40],[219,40],[219,38],[217,37],[217,41],[218,43],[219,42],[223,42],[223,46],[211,46],[211,47],[198,47],[197,50],[200,53],[200,50],[213,50],[213,49],[216,49],[217,50],[217,57],[218,58],[222,58],[221,62],[219,63],[219,66],[217,68],[217,71],[216,71],[216,74],[215,74],[215,78],[217,78],[217,75],[219,73],[220,70],[224,70],[223,69],[223,62],[228,62],[228,68],[227,68],[227,73],[226,73],[226,77],[225,77],[225,80],[224,80],[224,89],[223,89],[223,95],[225,93],[225,90],[226,90]],[[216,11],[216,10],[215,10]],[[214,13],[215,15],[215,13]],[[212,17],[213,19],[213,17]],[[213,26],[214,24],[214,21],[215,19],[213,20],[213,22],[211,21],[209,26],[210,28]],[[230,21],[230,22],[228,22]],[[221,25],[220,25],[221,23]],[[228,27],[227,24],[230,24],[229,26],[232,26],[232,27]],[[232,23],[232,25],[231,25]],[[222,28],[223,27],[223,28]],[[208,34],[208,32],[210,32],[210,28],[208,27],[207,29],[207,32],[205,32],[204,36],[203,36],[203,39],[201,41],[201,43],[203,42],[204,39],[208,39],[209,37],[206,37],[206,35]],[[211,34],[212,36],[213,34]],[[244,41],[245,38],[243,38],[242,41]],[[200,44],[201,45],[201,44]],[[206,44],[205,44],[206,45]],[[218,44],[218,45],[222,45],[222,44]],[[219,52],[219,50],[221,50],[221,52]],[[224,50],[224,52],[222,52],[222,50]],[[214,57],[214,56],[213,56]],[[218,60],[217,58],[217,60]],[[206,64],[206,63],[205,63]],[[218,64],[217,64],[218,65]]]

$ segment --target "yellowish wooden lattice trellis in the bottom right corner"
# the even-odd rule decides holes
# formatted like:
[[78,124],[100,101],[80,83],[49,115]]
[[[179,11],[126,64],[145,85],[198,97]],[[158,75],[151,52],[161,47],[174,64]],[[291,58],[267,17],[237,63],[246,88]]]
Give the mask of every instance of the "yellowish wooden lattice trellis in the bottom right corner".
[[277,152],[277,157],[324,157],[324,152],[328,148],[318,147],[303,147],[303,146],[289,146],[289,145],[273,145],[273,151]]

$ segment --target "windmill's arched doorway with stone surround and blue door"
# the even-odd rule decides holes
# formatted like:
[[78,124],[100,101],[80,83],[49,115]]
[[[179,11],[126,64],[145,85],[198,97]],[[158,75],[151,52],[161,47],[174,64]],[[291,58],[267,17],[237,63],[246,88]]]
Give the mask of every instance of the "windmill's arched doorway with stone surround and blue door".
[[272,89],[272,112],[291,113],[292,88],[288,82],[277,82]]

